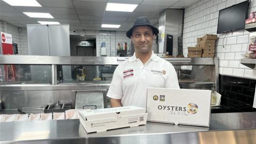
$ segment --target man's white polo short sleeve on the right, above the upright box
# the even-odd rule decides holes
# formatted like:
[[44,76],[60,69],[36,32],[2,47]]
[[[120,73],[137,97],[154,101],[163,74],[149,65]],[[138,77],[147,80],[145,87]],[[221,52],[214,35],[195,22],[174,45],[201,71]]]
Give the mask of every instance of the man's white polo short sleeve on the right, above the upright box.
[[171,89],[180,89],[178,76],[175,71],[175,68],[172,66],[171,63],[169,64],[169,76],[167,76],[167,81],[165,83],[165,88],[171,88]]

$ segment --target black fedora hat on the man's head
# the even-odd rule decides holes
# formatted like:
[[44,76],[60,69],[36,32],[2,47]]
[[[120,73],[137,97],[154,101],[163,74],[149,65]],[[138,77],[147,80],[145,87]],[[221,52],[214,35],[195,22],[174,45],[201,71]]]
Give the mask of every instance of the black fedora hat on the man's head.
[[151,22],[148,20],[147,17],[138,17],[135,20],[134,25],[132,26],[132,28],[127,31],[126,36],[131,38],[133,28],[138,27],[138,26],[149,26],[149,27],[152,28],[153,33],[155,35],[158,35],[158,33],[159,33],[159,30],[156,27],[151,25]]

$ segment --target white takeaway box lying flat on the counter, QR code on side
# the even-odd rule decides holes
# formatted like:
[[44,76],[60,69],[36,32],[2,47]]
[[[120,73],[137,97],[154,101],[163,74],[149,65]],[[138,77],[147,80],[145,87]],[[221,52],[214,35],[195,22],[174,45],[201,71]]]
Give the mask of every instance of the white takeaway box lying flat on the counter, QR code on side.
[[147,116],[146,108],[135,106],[78,111],[80,123],[87,133],[145,125]]

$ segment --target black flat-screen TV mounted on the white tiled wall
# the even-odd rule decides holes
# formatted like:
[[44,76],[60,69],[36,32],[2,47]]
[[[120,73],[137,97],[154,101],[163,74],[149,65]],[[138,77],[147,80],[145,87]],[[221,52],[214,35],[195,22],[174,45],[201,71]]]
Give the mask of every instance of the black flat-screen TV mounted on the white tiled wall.
[[232,5],[219,11],[217,34],[244,29],[248,1]]

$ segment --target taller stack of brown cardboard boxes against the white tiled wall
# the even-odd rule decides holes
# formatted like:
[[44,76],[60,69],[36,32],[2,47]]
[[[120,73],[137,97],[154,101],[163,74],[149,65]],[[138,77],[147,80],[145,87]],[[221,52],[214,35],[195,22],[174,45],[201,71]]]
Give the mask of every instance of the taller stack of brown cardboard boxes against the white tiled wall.
[[213,58],[215,53],[215,42],[217,39],[217,35],[205,35],[202,37],[199,46],[202,47],[203,58]]

